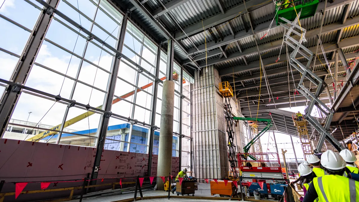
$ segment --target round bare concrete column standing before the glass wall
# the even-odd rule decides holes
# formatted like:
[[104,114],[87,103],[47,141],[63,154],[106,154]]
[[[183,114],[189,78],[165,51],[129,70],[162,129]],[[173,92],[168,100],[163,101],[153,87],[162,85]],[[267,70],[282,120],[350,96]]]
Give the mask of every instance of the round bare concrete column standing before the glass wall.
[[[161,125],[159,132],[157,176],[168,176],[172,164],[174,82],[164,81],[162,91]],[[161,178],[157,178],[158,189],[164,188]]]

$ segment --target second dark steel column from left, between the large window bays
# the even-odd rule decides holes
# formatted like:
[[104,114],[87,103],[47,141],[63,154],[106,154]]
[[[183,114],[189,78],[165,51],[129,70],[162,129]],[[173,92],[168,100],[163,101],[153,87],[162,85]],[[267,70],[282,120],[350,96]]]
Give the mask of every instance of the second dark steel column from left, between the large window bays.
[[[117,50],[119,52],[122,52],[123,40],[125,39],[125,33],[126,33],[126,24],[127,24],[127,13],[122,19],[120,36],[119,36],[119,40],[117,43]],[[116,80],[117,80],[120,60],[121,60],[121,55],[116,55],[116,58],[113,61],[111,78],[109,80],[109,85],[108,85],[108,93],[107,93],[107,97],[106,97],[106,102],[104,104],[105,111],[111,111],[112,99],[113,99],[113,94],[115,92],[115,86],[116,86]],[[97,178],[98,169],[99,169],[100,162],[101,162],[102,150],[103,150],[106,133],[107,133],[108,121],[109,121],[110,117],[111,117],[111,114],[103,114],[102,115],[101,127],[100,127],[99,135],[98,135],[97,150],[96,150],[94,165],[92,167],[91,179]],[[96,184],[96,180],[90,181],[90,185],[93,185],[93,184]]]

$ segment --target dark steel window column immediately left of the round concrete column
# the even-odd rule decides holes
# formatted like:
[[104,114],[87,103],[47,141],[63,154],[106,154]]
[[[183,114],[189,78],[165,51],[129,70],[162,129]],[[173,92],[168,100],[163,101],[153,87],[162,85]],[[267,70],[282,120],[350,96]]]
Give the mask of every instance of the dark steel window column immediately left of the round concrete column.
[[[157,50],[157,63],[156,63],[156,72],[155,75],[158,78],[159,76],[159,64],[161,61],[161,49],[158,47]],[[152,103],[151,103],[151,120],[150,124],[155,124],[156,119],[156,106],[157,106],[157,92],[158,92],[158,83],[156,81],[153,81],[153,97],[152,97]],[[154,137],[155,128],[151,127],[149,129],[148,133],[148,164],[147,164],[147,176],[151,176],[151,168],[152,168],[152,153],[153,153],[153,137]]]

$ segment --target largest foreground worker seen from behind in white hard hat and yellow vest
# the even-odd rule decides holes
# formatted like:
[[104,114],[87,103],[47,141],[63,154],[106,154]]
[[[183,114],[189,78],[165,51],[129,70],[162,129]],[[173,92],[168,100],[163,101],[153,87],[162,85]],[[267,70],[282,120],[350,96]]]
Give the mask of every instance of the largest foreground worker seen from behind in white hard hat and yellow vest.
[[313,179],[303,202],[313,202],[316,198],[326,202],[359,201],[359,182],[342,176],[346,162],[339,153],[325,151],[320,162],[328,175]]

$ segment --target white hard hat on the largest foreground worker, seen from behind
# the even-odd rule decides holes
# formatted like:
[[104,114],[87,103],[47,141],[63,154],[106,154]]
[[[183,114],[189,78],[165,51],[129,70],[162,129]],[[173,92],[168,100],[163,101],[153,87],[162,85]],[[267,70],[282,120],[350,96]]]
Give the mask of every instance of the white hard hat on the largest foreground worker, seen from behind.
[[334,151],[328,150],[322,153],[322,159],[320,160],[322,166],[330,170],[340,170],[346,166],[344,159]]

